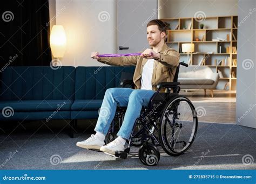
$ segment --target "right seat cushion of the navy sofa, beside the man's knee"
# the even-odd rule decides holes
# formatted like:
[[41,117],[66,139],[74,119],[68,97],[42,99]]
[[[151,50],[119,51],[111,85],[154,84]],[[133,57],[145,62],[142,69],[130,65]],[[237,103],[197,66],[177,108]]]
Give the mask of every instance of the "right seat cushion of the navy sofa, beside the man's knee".
[[103,100],[75,100],[72,110],[99,110]]

